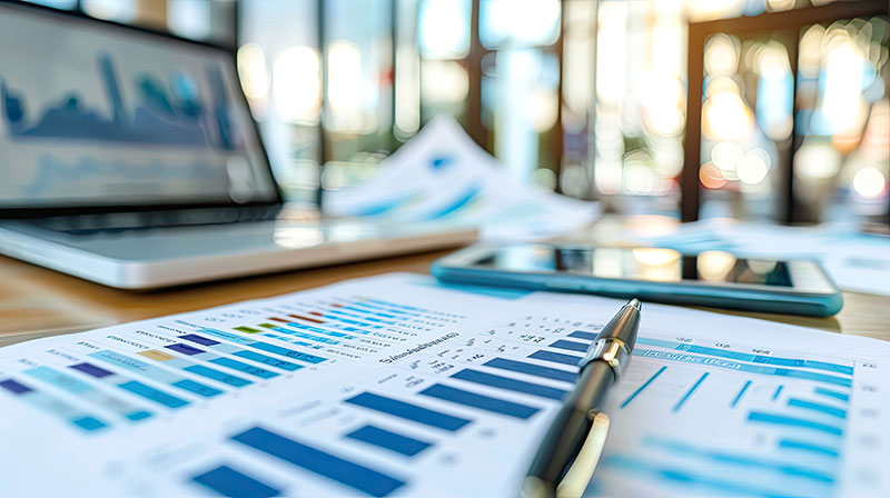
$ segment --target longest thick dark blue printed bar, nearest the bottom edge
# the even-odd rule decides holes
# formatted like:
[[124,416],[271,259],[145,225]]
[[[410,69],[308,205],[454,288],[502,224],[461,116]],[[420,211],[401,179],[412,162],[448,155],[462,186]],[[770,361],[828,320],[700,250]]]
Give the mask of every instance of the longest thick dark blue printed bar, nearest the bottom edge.
[[248,429],[233,436],[231,439],[366,495],[387,496],[405,485],[405,481],[400,479],[344,460],[260,427]]

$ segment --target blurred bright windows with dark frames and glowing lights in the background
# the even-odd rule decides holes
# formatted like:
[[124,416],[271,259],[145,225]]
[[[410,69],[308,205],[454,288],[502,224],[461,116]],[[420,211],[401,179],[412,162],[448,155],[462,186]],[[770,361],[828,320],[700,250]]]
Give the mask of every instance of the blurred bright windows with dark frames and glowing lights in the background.
[[[445,113],[516,178],[612,211],[680,217],[699,196],[702,218],[890,220],[886,1],[37,2],[237,51],[294,201],[369,178]],[[708,27],[701,60],[690,23]],[[683,175],[691,81],[700,153]]]

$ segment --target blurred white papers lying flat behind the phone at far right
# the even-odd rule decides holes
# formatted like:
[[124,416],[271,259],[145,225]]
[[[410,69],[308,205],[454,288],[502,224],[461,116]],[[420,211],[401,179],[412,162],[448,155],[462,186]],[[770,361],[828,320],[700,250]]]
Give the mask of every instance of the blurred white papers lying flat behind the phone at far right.
[[818,259],[841,289],[890,296],[890,237],[861,233],[851,223],[780,227],[709,219],[637,239],[680,251],[726,250],[767,258]]

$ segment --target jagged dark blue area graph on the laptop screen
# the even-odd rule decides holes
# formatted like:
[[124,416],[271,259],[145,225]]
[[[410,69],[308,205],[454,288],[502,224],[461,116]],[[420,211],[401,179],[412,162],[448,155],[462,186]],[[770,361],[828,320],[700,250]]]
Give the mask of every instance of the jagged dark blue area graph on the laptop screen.
[[239,146],[218,67],[211,66],[205,71],[211,109],[202,101],[198,83],[185,72],[175,71],[169,84],[151,74],[139,76],[134,82],[139,103],[132,111],[126,108],[111,57],[99,56],[98,69],[111,116],[87,107],[77,91],[69,91],[48,104],[39,117],[29,120],[24,97],[7,80],[0,80],[2,119],[10,137],[13,140],[68,139],[221,150]]

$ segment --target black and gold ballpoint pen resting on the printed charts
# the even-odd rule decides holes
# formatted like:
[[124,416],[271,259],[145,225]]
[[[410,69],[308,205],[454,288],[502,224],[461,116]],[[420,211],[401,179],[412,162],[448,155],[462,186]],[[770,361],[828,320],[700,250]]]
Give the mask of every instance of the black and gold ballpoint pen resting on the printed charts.
[[[631,299],[624,305],[600,331],[578,362],[581,371],[575,388],[556,414],[532,461],[523,484],[524,497],[580,496],[583,492],[592,477],[592,467],[602,451],[609,424],[609,418],[596,410],[596,407],[609,388],[621,378],[621,372],[631,358],[640,327],[640,309],[639,299]],[[604,429],[597,431],[597,425],[604,426]],[[589,440],[595,448],[586,447]],[[557,486],[562,490],[567,484],[570,475],[577,474],[571,467],[582,460],[580,455],[590,451],[594,451],[595,458],[584,459],[585,462],[592,460],[592,464],[591,468],[581,472],[582,485],[574,482],[571,494],[557,491]]]

